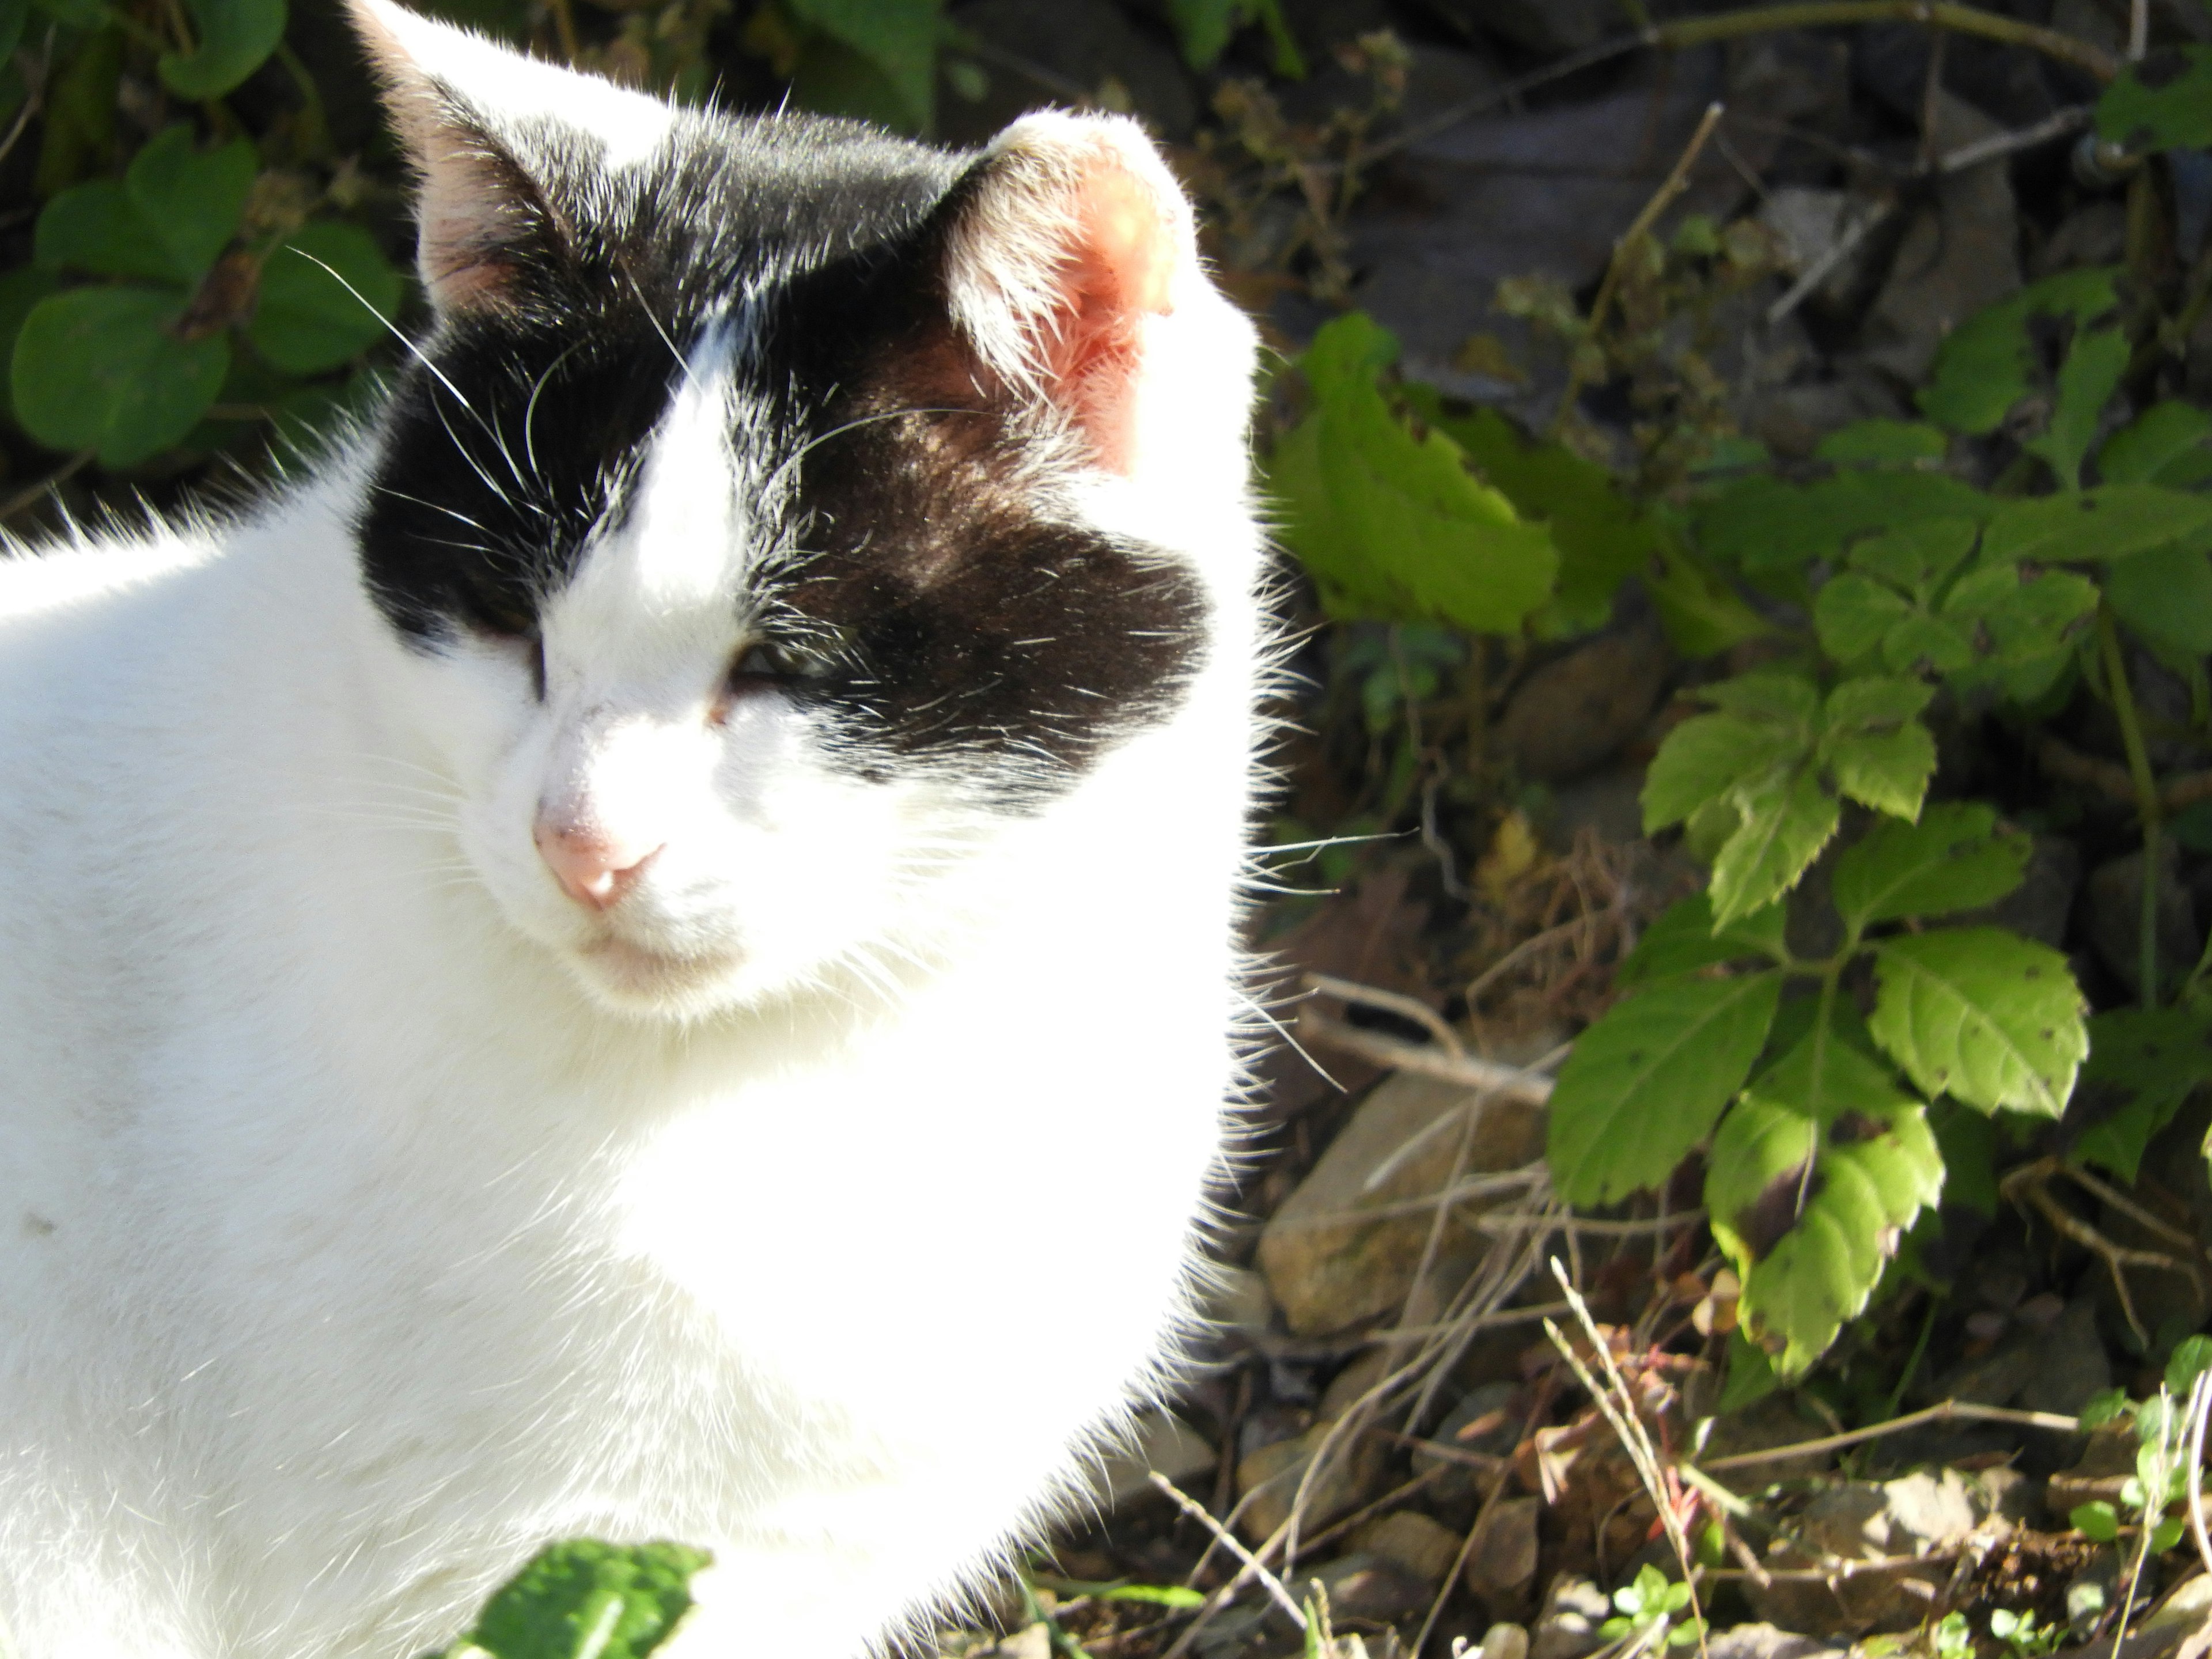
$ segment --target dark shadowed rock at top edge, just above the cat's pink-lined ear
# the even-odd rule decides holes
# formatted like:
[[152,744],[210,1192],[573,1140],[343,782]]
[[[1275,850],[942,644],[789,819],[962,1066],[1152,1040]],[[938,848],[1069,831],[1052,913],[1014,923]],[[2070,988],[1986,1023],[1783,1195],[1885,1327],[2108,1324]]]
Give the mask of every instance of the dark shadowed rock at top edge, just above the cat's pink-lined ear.
[[[1166,139],[1186,139],[1199,104],[1181,60],[1141,33],[1110,0],[973,0],[949,22],[991,49],[945,51],[938,137],[982,144],[1015,115],[1075,97],[1144,117]],[[969,97],[967,93],[978,93]]]

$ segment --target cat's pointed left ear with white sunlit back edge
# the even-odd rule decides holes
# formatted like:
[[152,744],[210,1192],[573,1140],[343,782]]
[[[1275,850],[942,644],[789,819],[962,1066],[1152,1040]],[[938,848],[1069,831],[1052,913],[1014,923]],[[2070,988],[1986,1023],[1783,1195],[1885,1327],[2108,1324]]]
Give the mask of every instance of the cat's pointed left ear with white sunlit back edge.
[[420,179],[416,263],[445,316],[504,310],[524,274],[560,263],[564,173],[622,166],[666,135],[670,108],[389,0],[347,0],[385,108]]

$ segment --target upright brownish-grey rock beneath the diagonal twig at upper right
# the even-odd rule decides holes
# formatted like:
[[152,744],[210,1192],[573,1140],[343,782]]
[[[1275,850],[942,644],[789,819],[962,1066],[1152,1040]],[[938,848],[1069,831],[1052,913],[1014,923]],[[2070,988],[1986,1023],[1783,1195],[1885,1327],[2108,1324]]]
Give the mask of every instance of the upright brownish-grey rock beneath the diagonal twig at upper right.
[[[1949,93],[1936,95],[1936,146],[1955,150],[2004,128]],[[1944,336],[2020,288],[2020,223],[2006,161],[1960,168],[1913,215],[1867,314],[1867,358],[1920,380]]]

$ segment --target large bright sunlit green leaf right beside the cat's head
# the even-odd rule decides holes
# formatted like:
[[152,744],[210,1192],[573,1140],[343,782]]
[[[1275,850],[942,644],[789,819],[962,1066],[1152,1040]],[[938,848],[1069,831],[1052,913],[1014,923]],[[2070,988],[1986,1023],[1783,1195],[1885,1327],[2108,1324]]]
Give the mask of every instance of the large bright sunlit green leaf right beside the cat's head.
[[1378,385],[1396,356],[1396,336],[1360,312],[1314,336],[1301,361],[1314,434],[1303,447],[1285,445],[1310,473],[1285,476],[1281,451],[1274,467],[1287,507],[1283,540],[1347,593],[1396,588],[1400,615],[1409,606],[1475,633],[1515,633],[1551,597],[1559,571],[1551,531],[1522,522],[1469,473],[1444,431],[1416,434],[1398,418]]

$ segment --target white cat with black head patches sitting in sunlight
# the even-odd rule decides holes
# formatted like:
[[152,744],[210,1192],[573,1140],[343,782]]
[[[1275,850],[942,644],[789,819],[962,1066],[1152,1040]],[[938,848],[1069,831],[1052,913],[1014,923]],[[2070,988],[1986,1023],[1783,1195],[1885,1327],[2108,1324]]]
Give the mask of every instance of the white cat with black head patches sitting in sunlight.
[[431,325],[0,568],[15,1659],[927,1639],[1199,1327],[1254,332],[1128,119],[677,108],[352,0]]

